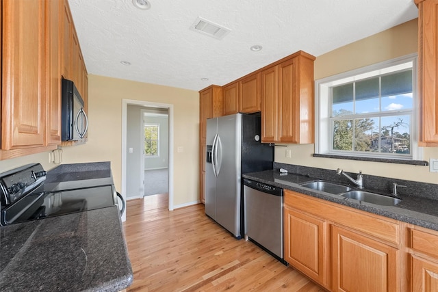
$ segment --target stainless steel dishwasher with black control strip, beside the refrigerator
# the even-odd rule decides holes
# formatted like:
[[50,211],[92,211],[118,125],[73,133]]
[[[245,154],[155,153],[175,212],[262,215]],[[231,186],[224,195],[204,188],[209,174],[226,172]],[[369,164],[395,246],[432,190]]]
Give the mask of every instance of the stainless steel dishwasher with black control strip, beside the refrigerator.
[[283,189],[244,178],[245,239],[253,241],[281,263],[283,252]]

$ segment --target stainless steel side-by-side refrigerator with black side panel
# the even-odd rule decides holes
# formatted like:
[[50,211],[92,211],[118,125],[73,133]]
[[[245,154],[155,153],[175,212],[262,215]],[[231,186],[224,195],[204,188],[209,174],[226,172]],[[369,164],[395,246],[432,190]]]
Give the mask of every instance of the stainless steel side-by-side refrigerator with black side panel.
[[261,144],[259,115],[207,120],[205,214],[240,239],[244,232],[242,174],[272,170],[274,147]]

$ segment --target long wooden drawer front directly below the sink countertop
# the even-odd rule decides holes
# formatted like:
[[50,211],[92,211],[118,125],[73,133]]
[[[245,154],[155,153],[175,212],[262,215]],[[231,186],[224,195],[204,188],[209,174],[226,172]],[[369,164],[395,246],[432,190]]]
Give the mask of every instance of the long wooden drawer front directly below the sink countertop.
[[313,215],[322,216],[326,220],[354,228],[368,235],[394,243],[394,245],[398,245],[400,242],[399,224],[396,220],[390,218],[288,190],[285,190],[285,205]]

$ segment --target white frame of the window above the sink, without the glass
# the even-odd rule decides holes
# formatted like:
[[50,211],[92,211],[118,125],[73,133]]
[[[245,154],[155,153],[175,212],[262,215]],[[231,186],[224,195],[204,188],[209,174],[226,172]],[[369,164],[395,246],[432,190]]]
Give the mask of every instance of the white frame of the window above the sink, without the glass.
[[[412,95],[413,95],[413,107],[411,120],[409,122],[409,131],[411,135],[411,153],[410,155],[398,155],[396,153],[384,153],[384,152],[355,152],[344,150],[333,150],[333,133],[331,122],[331,87],[335,85],[341,85],[352,81],[360,81],[370,77],[376,77],[385,75],[389,72],[395,72],[394,66],[400,66],[412,62]],[[418,126],[420,122],[420,100],[417,94],[417,53],[405,55],[395,59],[390,59],[385,62],[372,64],[370,66],[364,66],[347,72],[343,72],[330,77],[315,80],[315,154],[338,156],[342,158],[346,157],[364,157],[369,159],[388,159],[391,161],[413,161],[421,160],[423,157],[422,148],[418,146]],[[396,110],[396,111],[379,111],[370,114],[352,114],[351,117],[363,118],[363,117],[376,117],[385,115],[394,115],[394,113],[402,116],[411,110]],[[345,120],[346,117],[339,118]]]

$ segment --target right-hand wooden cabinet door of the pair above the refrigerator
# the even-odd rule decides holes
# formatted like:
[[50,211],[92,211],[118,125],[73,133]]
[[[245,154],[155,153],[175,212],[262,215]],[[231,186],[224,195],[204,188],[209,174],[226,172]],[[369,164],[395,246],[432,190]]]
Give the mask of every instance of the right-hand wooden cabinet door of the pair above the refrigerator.
[[257,73],[239,81],[239,108],[242,113],[260,111],[260,76],[261,73]]

